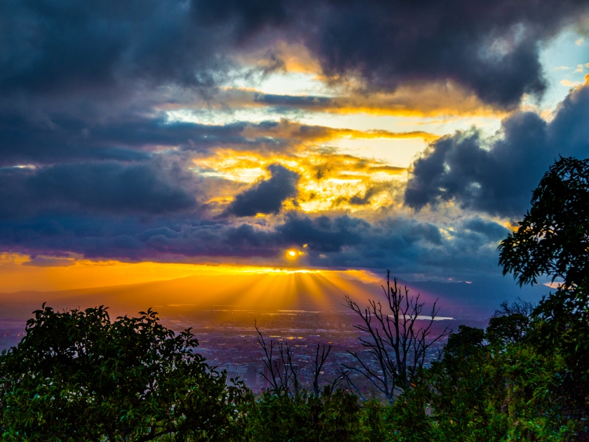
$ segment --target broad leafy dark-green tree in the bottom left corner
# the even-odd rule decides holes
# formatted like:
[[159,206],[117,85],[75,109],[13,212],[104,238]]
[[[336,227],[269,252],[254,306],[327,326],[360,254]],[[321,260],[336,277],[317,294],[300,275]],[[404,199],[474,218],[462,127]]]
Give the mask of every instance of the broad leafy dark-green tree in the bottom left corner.
[[222,441],[242,423],[243,384],[226,387],[149,309],[109,318],[101,307],[34,312],[26,335],[0,356],[2,440]]

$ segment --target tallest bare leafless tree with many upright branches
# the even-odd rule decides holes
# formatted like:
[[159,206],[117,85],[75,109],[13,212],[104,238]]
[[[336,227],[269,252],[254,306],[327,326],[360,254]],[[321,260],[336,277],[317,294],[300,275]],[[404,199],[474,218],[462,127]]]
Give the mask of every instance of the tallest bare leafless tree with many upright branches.
[[[388,301],[388,312],[383,311],[380,301],[368,300],[369,305],[362,309],[351,297],[344,297],[346,307],[362,319],[362,323],[354,327],[366,333],[358,339],[370,356],[365,358],[358,352],[348,351],[356,365],[344,364],[345,370],[341,373],[360,396],[362,393],[353,381],[352,373],[365,377],[392,403],[398,394],[412,387],[414,377],[424,366],[428,349],[449,335],[450,330],[446,327],[440,335],[431,337],[433,321],[439,311],[438,301],[433,303],[426,321],[419,318],[425,302],[419,301],[419,293],[409,297],[407,286],[399,286],[396,278],[391,285],[390,270],[386,271],[386,288],[382,288]],[[417,321],[425,325],[420,327]]]

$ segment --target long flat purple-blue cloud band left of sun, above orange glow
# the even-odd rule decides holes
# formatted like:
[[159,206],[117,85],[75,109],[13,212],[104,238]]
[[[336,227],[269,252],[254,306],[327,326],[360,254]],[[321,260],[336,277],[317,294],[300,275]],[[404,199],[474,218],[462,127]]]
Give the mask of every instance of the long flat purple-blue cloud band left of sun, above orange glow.
[[79,253],[88,258],[273,257],[276,234],[248,224],[198,217],[44,215],[0,220],[4,249],[31,255]]

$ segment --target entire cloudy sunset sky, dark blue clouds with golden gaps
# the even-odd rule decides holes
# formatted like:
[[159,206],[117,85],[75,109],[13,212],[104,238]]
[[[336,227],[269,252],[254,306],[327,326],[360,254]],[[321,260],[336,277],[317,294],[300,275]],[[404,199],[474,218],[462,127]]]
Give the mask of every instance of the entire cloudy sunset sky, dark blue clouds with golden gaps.
[[589,152],[589,4],[0,2],[0,291],[501,277]]

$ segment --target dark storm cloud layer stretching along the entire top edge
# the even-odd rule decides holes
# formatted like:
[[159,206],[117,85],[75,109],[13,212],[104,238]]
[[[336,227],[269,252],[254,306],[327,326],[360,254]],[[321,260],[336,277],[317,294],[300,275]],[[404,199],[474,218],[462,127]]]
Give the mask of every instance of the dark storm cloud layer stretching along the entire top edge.
[[332,79],[359,74],[368,91],[452,80],[510,106],[545,87],[539,43],[588,8],[562,0],[3,1],[0,93],[205,91],[231,76],[227,55],[280,38],[306,44]]

